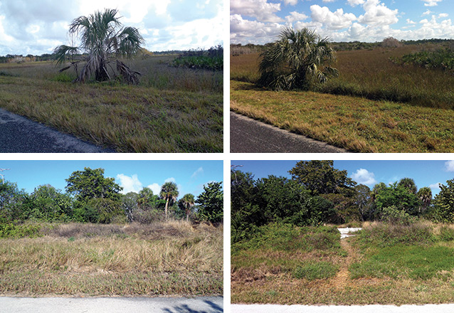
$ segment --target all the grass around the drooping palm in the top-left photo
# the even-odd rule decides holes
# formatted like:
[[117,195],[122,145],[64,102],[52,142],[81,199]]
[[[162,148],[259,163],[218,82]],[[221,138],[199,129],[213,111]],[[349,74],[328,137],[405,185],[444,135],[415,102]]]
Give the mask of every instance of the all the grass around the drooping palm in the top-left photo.
[[140,84],[73,84],[53,63],[0,64],[0,107],[117,152],[222,152],[223,74],[130,61]]

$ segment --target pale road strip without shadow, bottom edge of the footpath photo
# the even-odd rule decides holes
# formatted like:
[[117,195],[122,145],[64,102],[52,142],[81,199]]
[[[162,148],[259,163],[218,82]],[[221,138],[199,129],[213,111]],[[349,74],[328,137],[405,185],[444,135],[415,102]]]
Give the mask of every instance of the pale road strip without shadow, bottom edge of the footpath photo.
[[314,306],[231,304],[231,313],[453,313],[454,304]]

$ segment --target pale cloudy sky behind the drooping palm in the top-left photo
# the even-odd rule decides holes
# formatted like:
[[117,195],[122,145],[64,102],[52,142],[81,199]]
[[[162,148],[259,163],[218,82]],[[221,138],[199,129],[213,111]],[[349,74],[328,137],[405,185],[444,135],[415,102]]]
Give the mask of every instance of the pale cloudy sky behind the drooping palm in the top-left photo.
[[223,0],[0,0],[0,55],[52,53],[70,45],[73,19],[106,8],[118,9],[124,26],[139,28],[149,51],[223,43]]

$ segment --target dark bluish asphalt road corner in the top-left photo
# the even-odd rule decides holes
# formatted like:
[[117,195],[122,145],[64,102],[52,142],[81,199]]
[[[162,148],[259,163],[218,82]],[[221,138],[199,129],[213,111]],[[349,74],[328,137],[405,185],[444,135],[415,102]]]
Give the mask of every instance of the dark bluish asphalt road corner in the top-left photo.
[[1,153],[110,153],[94,144],[58,132],[0,108]]

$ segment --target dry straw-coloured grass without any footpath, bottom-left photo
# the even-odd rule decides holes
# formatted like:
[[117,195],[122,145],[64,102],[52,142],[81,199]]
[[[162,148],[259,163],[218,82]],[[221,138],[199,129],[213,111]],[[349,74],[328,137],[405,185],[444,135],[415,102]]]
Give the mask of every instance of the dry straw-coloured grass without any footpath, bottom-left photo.
[[1,295],[222,295],[223,228],[43,225],[0,239]]

